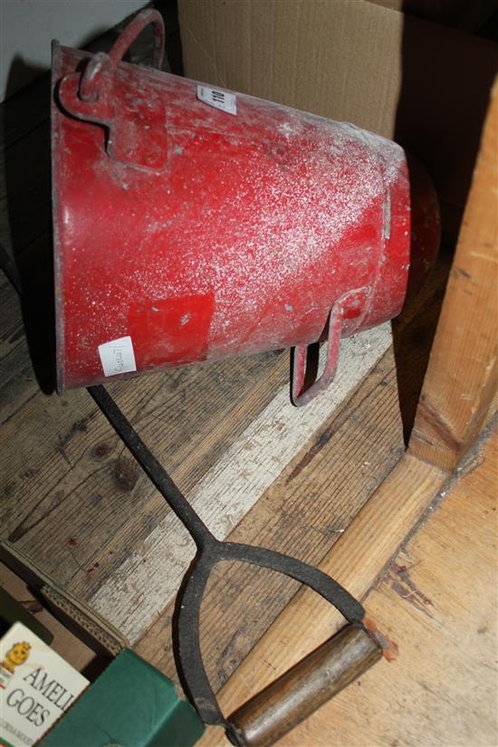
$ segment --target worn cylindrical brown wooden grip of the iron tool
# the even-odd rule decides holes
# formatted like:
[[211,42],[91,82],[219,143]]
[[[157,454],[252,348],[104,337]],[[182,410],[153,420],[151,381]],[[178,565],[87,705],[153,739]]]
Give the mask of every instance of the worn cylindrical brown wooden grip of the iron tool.
[[381,647],[364,627],[343,627],[232,713],[229,738],[244,747],[269,747],[381,656]]

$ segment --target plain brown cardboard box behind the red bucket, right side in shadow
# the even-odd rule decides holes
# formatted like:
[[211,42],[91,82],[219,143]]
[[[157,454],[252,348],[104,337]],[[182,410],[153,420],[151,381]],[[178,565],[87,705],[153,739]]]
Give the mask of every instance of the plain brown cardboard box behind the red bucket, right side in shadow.
[[178,12],[188,77],[395,139],[462,210],[495,44],[364,0],[179,0]]

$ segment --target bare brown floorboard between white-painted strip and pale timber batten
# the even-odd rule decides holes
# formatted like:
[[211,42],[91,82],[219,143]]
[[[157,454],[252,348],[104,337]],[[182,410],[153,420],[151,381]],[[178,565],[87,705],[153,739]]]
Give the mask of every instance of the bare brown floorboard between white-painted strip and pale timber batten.
[[[389,350],[261,495],[230,540],[320,562],[403,451]],[[244,564],[215,567],[201,620],[204,656],[215,686],[223,684],[297,588],[291,579]],[[173,608],[171,602],[137,649],[168,676],[175,676]]]

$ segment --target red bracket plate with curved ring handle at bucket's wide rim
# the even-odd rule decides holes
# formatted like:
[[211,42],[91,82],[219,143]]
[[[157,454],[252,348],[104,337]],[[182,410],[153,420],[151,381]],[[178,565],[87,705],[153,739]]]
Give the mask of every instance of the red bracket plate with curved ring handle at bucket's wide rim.
[[164,105],[160,100],[141,101],[120,95],[120,63],[149,24],[154,25],[154,66],[160,68],[164,22],[158,11],[149,8],[135,16],[109,54],[94,54],[83,72],[66,75],[59,85],[58,98],[63,110],[73,117],[109,130],[106,150],[110,158],[156,171],[166,166],[167,159]]

